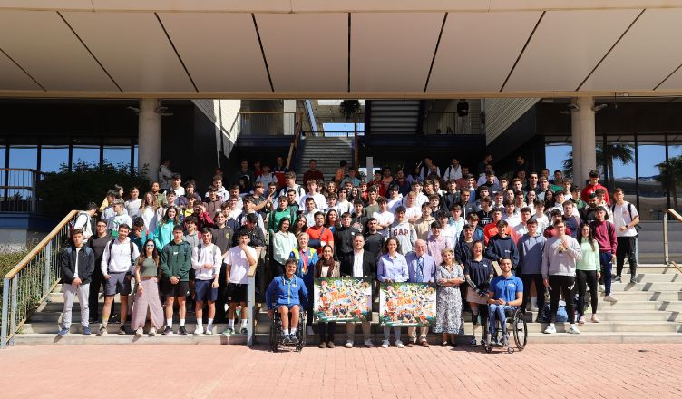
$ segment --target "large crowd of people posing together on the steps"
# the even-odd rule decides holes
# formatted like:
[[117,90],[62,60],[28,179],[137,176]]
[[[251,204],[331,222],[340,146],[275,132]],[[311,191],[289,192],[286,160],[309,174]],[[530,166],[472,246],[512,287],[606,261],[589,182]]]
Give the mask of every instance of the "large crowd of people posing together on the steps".
[[[521,307],[537,312],[536,321],[549,323],[544,332],[553,334],[561,300],[567,332],[580,334],[589,302],[589,322],[599,323],[599,291],[605,301],[618,300],[611,282],[621,280],[625,258],[630,282],[636,277],[639,217],[623,190],[615,189],[611,199],[597,170],[579,187],[560,170],[553,179],[549,170],[528,170],[522,157],[506,176],[495,174],[489,155],[476,165],[478,174],[473,170],[453,159],[442,171],[426,158],[412,173],[386,167],[367,181],[342,162],[325,180],[310,161],[300,186],[278,157],[273,168],[242,161],[230,177],[216,170],[201,195],[164,161],[161,181],[151,182],[149,192],[116,187],[101,206],[90,203],[76,217],[73,247],[62,254],[59,334],[69,333],[76,295],[83,334],[91,334],[89,322],[100,321],[98,334],[107,334],[116,294],[119,334],[128,334],[129,313],[137,335],[147,319],[152,336],[187,334],[188,308],[196,316],[195,335],[214,334],[216,321],[227,321],[223,334],[245,333],[250,268],[258,270],[258,299],[287,321],[300,306],[307,334],[313,334],[308,294],[315,277],[434,284],[433,332],[443,335],[443,345],[455,345],[463,334],[465,311],[474,327],[488,323],[494,332],[496,316]],[[296,326],[292,320],[284,328],[287,341],[297,340]],[[364,345],[373,346],[369,322],[361,327]],[[355,329],[346,324],[346,347],[353,347]],[[320,346],[334,347],[336,326],[318,330]],[[409,328],[406,345],[428,346],[428,332],[421,327],[417,336]],[[394,336],[394,345],[403,347],[399,327]],[[390,338],[385,327],[381,345],[388,347]],[[477,345],[475,335],[471,345]]]

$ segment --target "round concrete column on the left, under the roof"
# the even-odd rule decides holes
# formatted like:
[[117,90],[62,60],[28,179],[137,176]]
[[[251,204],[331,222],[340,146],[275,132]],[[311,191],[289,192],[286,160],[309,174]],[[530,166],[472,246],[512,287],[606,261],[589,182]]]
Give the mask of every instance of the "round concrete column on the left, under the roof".
[[140,100],[140,124],[138,127],[137,167],[142,170],[146,165],[151,180],[159,179],[161,163],[161,113],[157,99]]

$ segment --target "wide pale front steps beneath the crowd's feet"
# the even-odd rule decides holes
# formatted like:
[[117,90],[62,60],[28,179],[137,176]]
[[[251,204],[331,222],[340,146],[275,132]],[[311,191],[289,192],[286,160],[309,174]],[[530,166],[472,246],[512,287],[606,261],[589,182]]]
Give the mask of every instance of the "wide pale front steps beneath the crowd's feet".
[[[629,281],[624,275],[623,280]],[[580,326],[582,334],[573,336],[562,334],[568,325],[557,324],[559,334],[545,335],[542,331],[546,324],[533,323],[535,313],[529,312],[527,321],[529,330],[529,345],[533,343],[626,343],[626,342],[682,342],[682,275],[677,269],[660,264],[641,265],[638,269],[637,284],[614,283],[613,295],[619,298],[615,304],[604,302],[600,295],[598,316],[599,324],[586,323]],[[56,336],[59,329],[58,322],[62,316],[63,296],[57,287],[50,295],[50,302],[42,304],[33,316],[15,336],[15,345],[116,345],[116,344],[191,344],[191,345],[245,345],[246,335],[233,336],[119,336],[116,334],[119,324],[110,323],[108,335],[83,336],[81,334],[80,307],[73,306],[73,325],[67,336]],[[100,297],[100,306],[103,298]],[[118,303],[118,298],[116,299]],[[118,308],[118,307],[117,307]],[[587,315],[591,314],[588,309]],[[174,326],[177,331],[177,313]],[[375,321],[378,316],[374,315]],[[470,316],[465,315],[465,335],[460,336],[461,344],[466,344],[472,334]],[[260,311],[257,318],[256,343],[268,344],[269,321],[265,311]],[[93,332],[98,326],[93,325]],[[193,313],[187,314],[187,330],[194,331],[195,318]],[[215,331],[221,332],[226,325],[219,324]],[[381,327],[373,324],[373,338],[375,344],[382,337]],[[337,326],[338,344],[345,341],[345,329]],[[358,327],[359,333],[359,327]],[[404,331],[405,334],[405,331]],[[476,335],[480,336],[478,329]],[[430,335],[432,344],[438,344],[439,336]],[[308,341],[317,344],[317,336],[310,336]]]

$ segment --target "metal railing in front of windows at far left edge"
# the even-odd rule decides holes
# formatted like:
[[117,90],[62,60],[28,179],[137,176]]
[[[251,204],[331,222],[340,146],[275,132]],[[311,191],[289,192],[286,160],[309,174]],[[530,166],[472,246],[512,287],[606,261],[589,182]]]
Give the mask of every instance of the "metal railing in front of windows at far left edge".
[[44,173],[33,169],[0,169],[0,212],[38,213],[35,186]]

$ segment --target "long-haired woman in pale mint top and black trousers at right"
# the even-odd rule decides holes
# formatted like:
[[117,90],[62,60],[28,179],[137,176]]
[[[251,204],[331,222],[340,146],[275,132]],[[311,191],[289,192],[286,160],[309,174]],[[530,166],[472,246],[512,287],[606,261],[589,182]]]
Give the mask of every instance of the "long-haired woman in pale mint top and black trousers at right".
[[580,225],[580,249],[582,259],[576,262],[576,289],[578,290],[578,324],[585,323],[585,290],[589,286],[589,304],[592,310],[592,323],[599,323],[597,305],[599,305],[599,291],[597,281],[600,277],[599,245],[594,238],[594,231],[588,223]]

